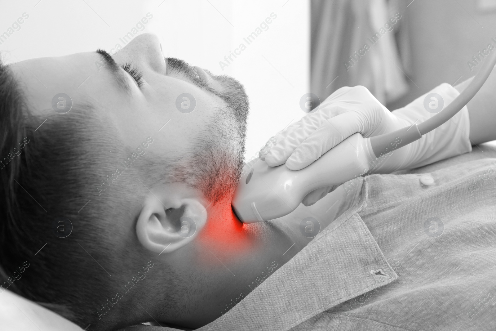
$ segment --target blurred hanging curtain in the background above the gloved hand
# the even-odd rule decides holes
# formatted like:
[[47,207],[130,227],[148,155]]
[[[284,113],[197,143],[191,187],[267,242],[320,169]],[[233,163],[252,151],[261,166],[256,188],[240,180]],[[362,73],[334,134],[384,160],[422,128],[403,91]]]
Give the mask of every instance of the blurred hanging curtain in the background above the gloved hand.
[[[404,95],[409,43],[406,33],[398,33],[405,25],[405,7],[402,0],[311,0],[311,92],[324,100],[342,86],[363,85],[384,105]],[[384,26],[396,13],[401,18],[387,31]],[[380,31],[386,32],[373,43]],[[400,37],[402,57],[395,37]]]

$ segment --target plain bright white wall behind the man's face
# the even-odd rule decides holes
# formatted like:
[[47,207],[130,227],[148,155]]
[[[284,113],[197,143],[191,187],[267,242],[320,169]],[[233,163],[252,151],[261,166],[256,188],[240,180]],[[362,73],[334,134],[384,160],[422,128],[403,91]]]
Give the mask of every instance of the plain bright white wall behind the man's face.
[[[147,12],[143,32],[157,34],[167,56],[216,74],[232,75],[246,87],[248,159],[267,139],[305,113],[299,100],[309,92],[308,0],[30,0],[0,2],[0,34],[26,12],[29,18],[0,45],[8,62],[45,56],[111,51]],[[243,38],[271,13],[268,30],[251,44]],[[222,70],[224,57],[240,43],[246,49]]]

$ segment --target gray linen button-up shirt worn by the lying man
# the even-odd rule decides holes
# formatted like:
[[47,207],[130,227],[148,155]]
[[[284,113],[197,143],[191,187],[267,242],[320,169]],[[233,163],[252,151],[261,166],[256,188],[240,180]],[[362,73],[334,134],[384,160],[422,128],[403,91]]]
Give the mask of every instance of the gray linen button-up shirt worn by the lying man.
[[198,330],[496,330],[496,148],[361,184],[302,251]]

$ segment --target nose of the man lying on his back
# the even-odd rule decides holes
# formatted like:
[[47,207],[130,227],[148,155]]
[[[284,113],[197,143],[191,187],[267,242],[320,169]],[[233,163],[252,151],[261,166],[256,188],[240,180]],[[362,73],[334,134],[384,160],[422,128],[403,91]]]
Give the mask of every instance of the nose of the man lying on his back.
[[151,68],[156,72],[166,72],[166,63],[162,53],[162,45],[153,33],[143,33],[131,40],[115,56],[118,63],[131,62],[133,65],[146,70]]

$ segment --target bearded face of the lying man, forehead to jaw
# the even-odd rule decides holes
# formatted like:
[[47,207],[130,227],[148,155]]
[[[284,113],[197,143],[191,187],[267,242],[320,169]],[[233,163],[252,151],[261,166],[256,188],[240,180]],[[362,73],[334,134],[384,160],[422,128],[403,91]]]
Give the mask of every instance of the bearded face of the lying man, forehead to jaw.
[[[207,199],[219,199],[236,185],[232,177],[242,166],[248,115],[243,86],[181,60],[165,59],[156,36],[139,35],[114,56],[102,51],[33,59],[15,69],[29,84],[34,113],[54,115],[52,99],[63,92],[73,107],[90,104],[100,112],[97,117],[107,122],[110,138],[125,146],[134,149],[146,137],[154,138],[152,152],[176,168],[168,169],[170,176],[195,180],[208,191]],[[208,153],[222,164],[212,164]],[[203,163],[203,173],[173,162],[178,158]],[[222,181],[207,176],[219,172]]]

